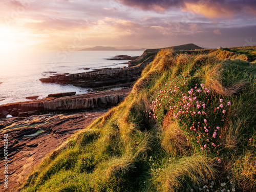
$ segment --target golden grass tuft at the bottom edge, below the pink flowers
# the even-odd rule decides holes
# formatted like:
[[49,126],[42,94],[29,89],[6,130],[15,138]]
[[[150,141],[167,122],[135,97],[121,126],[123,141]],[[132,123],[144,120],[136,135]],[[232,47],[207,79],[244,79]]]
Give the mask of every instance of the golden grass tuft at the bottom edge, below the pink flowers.
[[158,191],[182,191],[189,183],[199,186],[215,177],[212,161],[205,156],[182,157],[160,171],[156,178]]

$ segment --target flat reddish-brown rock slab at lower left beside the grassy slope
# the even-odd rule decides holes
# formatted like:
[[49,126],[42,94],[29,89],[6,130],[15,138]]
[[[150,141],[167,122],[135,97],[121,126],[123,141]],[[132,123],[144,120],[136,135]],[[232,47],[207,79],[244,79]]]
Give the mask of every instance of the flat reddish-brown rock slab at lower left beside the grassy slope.
[[0,151],[0,191],[15,191],[32,167],[68,137],[88,126],[105,111],[13,117],[0,121],[0,146],[8,134],[8,189],[4,187],[4,151]]

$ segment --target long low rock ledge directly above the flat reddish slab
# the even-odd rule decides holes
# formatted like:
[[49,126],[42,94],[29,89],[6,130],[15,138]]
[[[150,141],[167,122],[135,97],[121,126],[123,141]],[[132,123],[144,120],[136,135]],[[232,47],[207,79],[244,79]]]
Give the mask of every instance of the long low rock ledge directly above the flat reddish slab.
[[120,103],[129,92],[130,89],[120,89],[0,105],[0,118],[8,114],[26,117],[41,112],[105,109]]

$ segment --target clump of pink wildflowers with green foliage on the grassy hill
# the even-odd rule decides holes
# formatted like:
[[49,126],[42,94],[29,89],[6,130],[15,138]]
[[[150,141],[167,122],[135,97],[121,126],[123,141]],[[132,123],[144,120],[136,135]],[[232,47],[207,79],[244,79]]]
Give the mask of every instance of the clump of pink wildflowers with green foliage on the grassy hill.
[[172,111],[187,142],[204,154],[219,154],[221,129],[231,102],[218,98],[204,84],[192,84],[179,77],[165,82],[162,88],[152,101],[150,117],[161,124],[166,112]]

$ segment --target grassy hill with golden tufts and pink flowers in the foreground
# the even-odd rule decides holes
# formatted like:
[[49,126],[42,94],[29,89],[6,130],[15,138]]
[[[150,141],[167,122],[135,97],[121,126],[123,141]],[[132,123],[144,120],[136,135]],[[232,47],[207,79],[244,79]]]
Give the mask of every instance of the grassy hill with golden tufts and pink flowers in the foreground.
[[255,61],[213,52],[159,51],[132,93],[21,190],[255,191]]

